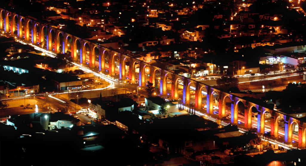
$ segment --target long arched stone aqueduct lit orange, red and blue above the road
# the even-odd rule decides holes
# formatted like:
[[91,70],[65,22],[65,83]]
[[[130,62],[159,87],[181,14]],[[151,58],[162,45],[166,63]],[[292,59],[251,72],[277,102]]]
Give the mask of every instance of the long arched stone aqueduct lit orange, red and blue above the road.
[[[255,124],[255,126],[257,126],[258,133],[264,133],[264,113],[269,112],[272,115],[271,134],[277,137],[277,118],[282,116],[285,119],[285,141],[292,141],[292,124],[296,123],[299,126],[299,146],[305,147],[305,122],[302,122],[299,119],[295,119],[294,117],[285,115],[278,111],[261,107],[230,93],[223,92],[211,86],[194,81],[179,74],[175,74],[171,70],[161,69],[157,66],[121,54],[99,44],[92,43],[77,36],[73,36],[57,28],[39,23],[33,19],[20,16],[16,13],[11,13],[4,9],[0,9],[0,12],[0,28],[2,31],[16,35],[19,39],[31,41],[34,45],[42,48],[47,48],[48,50],[54,51],[56,53],[66,53],[69,51],[71,52],[71,56],[74,62],[88,65],[90,68],[95,69],[95,71],[107,70],[111,76],[114,76],[117,72],[120,79],[125,80],[128,77],[131,83],[135,83],[137,80],[136,66],[138,66],[139,86],[145,86],[146,81],[150,81],[155,84],[155,80],[158,79],[160,94],[167,95],[168,93],[171,93],[172,98],[176,100],[179,96],[178,80],[182,80],[182,104],[190,103],[190,89],[193,89],[195,92],[192,95],[195,96],[196,109],[202,108],[202,95],[204,94],[204,96],[206,96],[207,113],[213,113],[215,102],[215,105],[217,105],[219,108],[218,115],[221,119],[226,115],[227,104],[228,110],[231,114],[232,124],[238,123],[238,113],[243,112],[245,122],[244,127],[250,129],[252,127],[252,109],[254,110],[256,108],[258,115],[257,124]],[[129,73],[126,73],[127,68],[129,69]],[[146,80],[146,75],[148,76],[148,80]],[[159,75],[158,78],[157,75]],[[171,81],[171,90],[167,92],[167,80],[169,78]],[[218,95],[218,98],[214,100],[214,95],[216,94]],[[218,101],[218,104],[216,104],[216,100]]]

